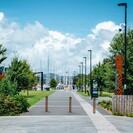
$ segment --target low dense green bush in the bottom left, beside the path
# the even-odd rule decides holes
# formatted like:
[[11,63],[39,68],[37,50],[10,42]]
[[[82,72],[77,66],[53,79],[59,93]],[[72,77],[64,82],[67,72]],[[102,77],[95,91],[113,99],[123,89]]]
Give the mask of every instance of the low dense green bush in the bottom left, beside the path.
[[29,104],[22,95],[0,95],[0,116],[18,115],[26,112]]

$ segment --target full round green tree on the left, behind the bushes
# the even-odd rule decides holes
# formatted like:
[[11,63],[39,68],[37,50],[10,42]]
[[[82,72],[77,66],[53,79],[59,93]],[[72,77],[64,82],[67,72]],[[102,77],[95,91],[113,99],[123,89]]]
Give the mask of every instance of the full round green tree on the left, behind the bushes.
[[7,73],[11,82],[17,82],[17,91],[32,88],[36,84],[37,78],[34,72],[30,70],[30,66],[26,60],[14,58]]

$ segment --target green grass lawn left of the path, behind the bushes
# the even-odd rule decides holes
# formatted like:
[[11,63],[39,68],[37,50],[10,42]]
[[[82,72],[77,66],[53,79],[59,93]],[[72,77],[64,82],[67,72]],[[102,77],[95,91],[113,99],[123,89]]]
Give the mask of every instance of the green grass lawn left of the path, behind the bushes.
[[51,91],[29,91],[29,96],[27,96],[27,91],[21,91],[20,94],[25,96],[30,106],[32,106],[38,101],[40,101],[41,99],[43,99],[45,96],[48,96],[52,94],[53,92],[54,92],[53,90]]

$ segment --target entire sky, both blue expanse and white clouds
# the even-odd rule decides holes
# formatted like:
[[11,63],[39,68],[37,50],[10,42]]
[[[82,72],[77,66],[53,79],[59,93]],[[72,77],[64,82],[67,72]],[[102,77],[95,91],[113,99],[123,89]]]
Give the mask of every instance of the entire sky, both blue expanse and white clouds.
[[86,56],[89,73],[88,50],[93,65],[102,62],[124,23],[121,2],[127,2],[127,28],[132,29],[132,0],[0,0],[0,43],[8,57],[3,65],[18,56],[46,73],[49,56],[50,72],[73,75]]

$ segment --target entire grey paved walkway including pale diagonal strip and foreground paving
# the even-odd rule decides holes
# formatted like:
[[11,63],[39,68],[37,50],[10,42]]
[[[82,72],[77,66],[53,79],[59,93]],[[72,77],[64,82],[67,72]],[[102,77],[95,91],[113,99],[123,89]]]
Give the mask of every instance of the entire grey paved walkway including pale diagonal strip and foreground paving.
[[[72,113],[68,111],[70,96]],[[132,118],[102,115],[98,111],[93,114],[89,100],[74,91],[50,95],[49,112],[44,110],[44,101],[21,116],[0,117],[0,133],[132,133]]]

